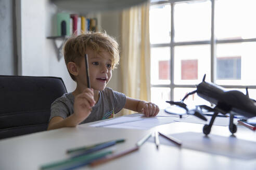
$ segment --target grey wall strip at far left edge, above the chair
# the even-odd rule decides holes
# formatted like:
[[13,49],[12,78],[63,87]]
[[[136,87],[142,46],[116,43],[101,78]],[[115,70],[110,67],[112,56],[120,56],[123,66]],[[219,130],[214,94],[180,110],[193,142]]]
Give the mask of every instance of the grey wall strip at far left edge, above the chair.
[[14,1],[0,1],[0,75],[17,75]]

